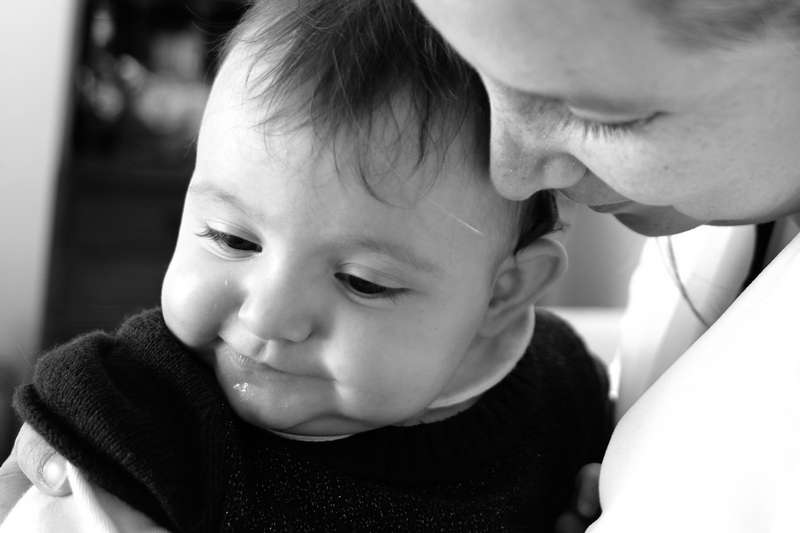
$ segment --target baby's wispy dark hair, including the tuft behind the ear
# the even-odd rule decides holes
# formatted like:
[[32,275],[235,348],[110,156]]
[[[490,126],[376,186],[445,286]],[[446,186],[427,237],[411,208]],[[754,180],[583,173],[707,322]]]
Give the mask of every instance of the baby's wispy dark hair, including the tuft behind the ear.
[[[430,147],[443,157],[466,125],[474,143],[467,152],[488,177],[490,111],[483,84],[411,0],[254,0],[225,54],[239,45],[247,50],[249,94],[270,107],[265,125],[280,121],[310,126],[330,140],[339,133],[360,139],[354,154],[359,177],[376,198],[364,170],[372,127],[401,92],[410,97],[417,125],[417,167]],[[560,229],[549,191],[519,202],[514,215],[514,253]]]

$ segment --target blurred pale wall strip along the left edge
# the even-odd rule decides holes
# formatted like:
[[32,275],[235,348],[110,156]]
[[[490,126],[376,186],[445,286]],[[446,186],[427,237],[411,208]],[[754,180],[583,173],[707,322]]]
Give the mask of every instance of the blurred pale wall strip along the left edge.
[[78,0],[0,2],[0,360],[40,349]]

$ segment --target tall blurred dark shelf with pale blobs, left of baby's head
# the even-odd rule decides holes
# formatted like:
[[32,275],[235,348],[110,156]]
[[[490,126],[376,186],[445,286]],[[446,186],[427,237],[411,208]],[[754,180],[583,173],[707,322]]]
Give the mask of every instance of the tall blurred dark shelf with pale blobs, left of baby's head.
[[42,346],[159,304],[194,138],[241,0],[83,0]]

